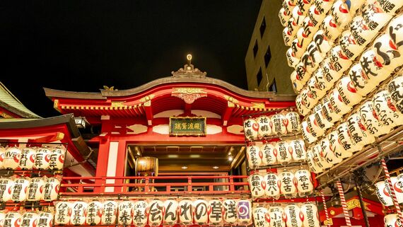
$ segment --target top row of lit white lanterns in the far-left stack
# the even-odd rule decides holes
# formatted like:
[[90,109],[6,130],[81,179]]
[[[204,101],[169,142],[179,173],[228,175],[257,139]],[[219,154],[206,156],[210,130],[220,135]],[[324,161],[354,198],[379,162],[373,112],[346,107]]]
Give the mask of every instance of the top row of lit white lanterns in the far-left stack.
[[62,170],[64,149],[0,147],[0,168],[8,170]]

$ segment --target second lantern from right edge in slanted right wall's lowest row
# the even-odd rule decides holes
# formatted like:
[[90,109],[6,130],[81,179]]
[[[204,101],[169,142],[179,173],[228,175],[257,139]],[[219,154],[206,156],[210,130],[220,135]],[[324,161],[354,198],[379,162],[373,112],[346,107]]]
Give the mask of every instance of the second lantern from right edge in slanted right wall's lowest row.
[[403,124],[403,116],[397,111],[387,91],[382,90],[375,93],[372,102],[373,109],[383,125],[386,127],[395,127]]

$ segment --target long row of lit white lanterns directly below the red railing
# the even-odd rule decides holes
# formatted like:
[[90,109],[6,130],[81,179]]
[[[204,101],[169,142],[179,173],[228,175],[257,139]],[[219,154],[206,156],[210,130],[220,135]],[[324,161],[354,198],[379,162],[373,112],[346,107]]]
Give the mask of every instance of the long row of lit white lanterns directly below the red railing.
[[55,225],[174,226],[181,224],[248,226],[252,203],[247,199],[151,199],[57,202]]

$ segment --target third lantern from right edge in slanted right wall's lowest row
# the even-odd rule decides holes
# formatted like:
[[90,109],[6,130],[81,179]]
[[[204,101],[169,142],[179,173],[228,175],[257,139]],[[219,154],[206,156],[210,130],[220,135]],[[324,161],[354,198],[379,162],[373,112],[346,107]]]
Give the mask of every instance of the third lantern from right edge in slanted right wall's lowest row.
[[373,109],[373,103],[371,100],[368,100],[361,105],[359,114],[363,125],[370,134],[373,134],[373,136],[380,136],[390,132],[391,127],[386,127],[381,124],[378,115]]

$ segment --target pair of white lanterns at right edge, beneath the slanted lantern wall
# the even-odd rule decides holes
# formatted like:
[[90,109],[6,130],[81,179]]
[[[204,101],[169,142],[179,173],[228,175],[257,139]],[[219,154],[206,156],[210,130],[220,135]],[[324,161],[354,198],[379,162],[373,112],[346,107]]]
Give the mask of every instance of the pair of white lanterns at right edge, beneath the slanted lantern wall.
[[[403,203],[403,173],[397,177],[390,177],[393,190],[395,190],[396,199],[399,204]],[[393,206],[393,199],[390,193],[389,184],[386,181],[380,181],[375,184],[376,195],[383,206]]]

